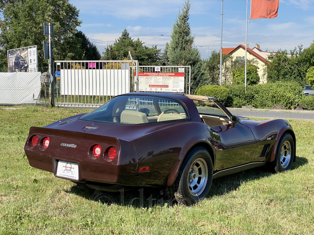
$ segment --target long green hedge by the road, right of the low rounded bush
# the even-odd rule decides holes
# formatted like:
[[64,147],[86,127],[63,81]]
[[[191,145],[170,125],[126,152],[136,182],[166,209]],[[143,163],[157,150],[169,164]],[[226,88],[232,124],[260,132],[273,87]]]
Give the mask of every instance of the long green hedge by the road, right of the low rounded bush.
[[287,109],[294,109],[300,102],[303,91],[295,81],[276,82],[247,86],[233,85],[229,88],[227,106],[241,107],[251,105],[256,108],[270,108],[274,104],[282,104]]

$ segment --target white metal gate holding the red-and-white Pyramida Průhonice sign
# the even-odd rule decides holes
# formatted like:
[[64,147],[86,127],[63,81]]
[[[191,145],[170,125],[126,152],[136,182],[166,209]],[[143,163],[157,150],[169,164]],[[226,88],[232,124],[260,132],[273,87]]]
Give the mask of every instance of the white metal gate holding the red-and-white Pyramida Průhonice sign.
[[[133,71],[135,67],[131,67]],[[138,71],[139,76],[132,73],[135,91],[191,93],[191,66],[140,65]]]

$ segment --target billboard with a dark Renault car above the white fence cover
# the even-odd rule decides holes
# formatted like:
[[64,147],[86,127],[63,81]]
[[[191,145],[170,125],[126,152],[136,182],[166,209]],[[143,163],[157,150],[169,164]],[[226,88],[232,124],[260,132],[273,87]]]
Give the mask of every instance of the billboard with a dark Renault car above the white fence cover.
[[37,46],[8,50],[8,72],[37,72]]

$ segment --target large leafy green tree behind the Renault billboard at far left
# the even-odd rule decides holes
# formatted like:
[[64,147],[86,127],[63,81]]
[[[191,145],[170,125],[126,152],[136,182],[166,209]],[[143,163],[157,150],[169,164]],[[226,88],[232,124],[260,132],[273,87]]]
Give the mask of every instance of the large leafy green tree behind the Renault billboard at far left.
[[3,0],[0,2],[0,67],[7,66],[7,50],[37,45],[39,67],[46,66],[43,40],[44,22],[54,24],[54,60],[78,59],[78,39],[73,37],[80,26],[78,12],[68,0]]

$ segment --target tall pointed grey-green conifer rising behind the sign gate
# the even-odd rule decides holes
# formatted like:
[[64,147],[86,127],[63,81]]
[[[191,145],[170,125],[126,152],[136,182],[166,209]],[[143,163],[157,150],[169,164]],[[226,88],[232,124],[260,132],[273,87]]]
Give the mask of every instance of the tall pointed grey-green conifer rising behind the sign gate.
[[169,65],[191,66],[191,93],[193,94],[205,81],[202,71],[202,60],[194,45],[189,20],[190,1],[184,3],[179,10],[176,22],[172,25],[170,49],[168,51]]

